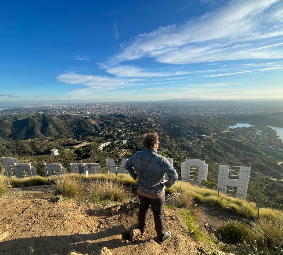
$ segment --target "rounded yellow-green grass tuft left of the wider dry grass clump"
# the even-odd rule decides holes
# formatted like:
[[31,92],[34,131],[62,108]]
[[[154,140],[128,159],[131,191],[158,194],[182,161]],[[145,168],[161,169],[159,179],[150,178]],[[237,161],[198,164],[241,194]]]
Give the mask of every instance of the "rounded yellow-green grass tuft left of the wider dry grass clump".
[[83,198],[83,183],[81,179],[63,175],[55,180],[55,188],[58,194],[64,197],[79,199]]

